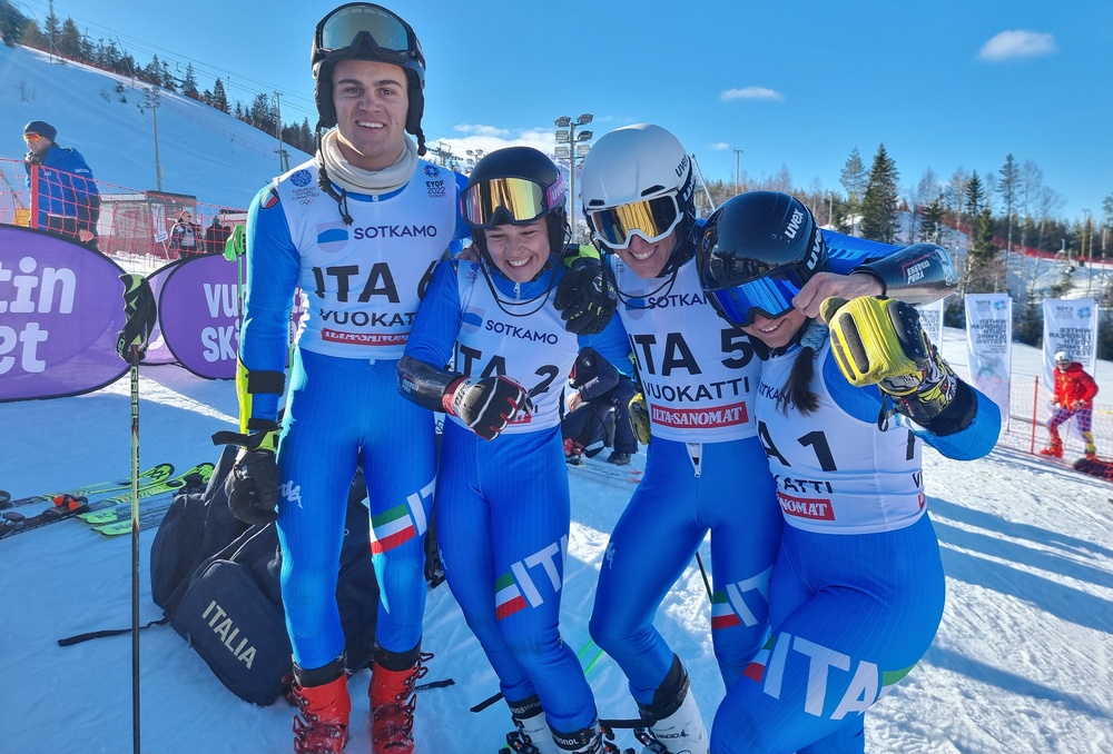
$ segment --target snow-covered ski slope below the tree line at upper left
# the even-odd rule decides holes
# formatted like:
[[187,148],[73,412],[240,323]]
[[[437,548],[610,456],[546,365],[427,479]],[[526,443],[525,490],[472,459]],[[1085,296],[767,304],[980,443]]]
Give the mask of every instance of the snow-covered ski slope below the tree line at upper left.
[[[198,201],[246,208],[252,197],[280,172],[278,142],[247,123],[181,95],[160,89],[157,113],[140,110],[148,85],[75,62],[50,62],[23,47],[0,44],[0,158],[22,161],[23,126],[46,120],[58,143],[75,147],[97,180],[114,187],[155,190],[155,120],[161,190]],[[118,90],[119,89],[119,90]],[[124,101],[126,100],[126,101]],[[308,155],[286,146],[289,163]],[[22,187],[22,170],[3,165]],[[101,191],[112,190],[101,187]]]

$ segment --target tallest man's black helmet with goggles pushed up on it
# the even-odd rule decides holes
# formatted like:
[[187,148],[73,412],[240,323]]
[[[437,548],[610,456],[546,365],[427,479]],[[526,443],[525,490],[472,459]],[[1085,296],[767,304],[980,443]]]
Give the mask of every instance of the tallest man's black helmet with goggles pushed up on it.
[[313,34],[309,62],[316,82],[317,130],[336,125],[333,71],[341,60],[374,60],[401,66],[408,85],[406,130],[417,139],[417,153],[425,153],[421,119],[425,113],[425,56],[413,27],[382,6],[349,2],[319,22]]

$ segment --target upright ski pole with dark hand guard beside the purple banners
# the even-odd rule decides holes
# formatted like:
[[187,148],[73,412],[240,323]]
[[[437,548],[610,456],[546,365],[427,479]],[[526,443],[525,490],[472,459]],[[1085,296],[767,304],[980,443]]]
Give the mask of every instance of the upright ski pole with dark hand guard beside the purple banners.
[[121,275],[124,329],[116,353],[131,365],[131,747],[139,748],[139,361],[155,328],[155,294],[141,275]]

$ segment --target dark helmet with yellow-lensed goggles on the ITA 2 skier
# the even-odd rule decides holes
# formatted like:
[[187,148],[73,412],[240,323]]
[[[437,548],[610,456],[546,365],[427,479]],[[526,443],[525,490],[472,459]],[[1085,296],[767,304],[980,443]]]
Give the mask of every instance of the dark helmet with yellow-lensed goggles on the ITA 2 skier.
[[560,254],[571,237],[568,194],[560,169],[532,147],[505,147],[484,156],[467,177],[460,201],[472,240],[490,261],[484,229],[545,218],[549,252]]

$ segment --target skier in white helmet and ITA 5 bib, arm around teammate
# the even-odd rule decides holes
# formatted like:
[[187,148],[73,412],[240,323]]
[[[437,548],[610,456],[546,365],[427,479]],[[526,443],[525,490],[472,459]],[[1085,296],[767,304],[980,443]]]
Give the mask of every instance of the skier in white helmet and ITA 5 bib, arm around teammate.
[[[604,135],[584,158],[578,183],[605,252],[604,282],[613,280],[618,290],[652,436],[642,482],[611,533],[591,636],[626,673],[653,751],[703,753],[707,733],[688,672],[653,621],[710,532],[711,638],[728,688],[760,646],[782,526],[754,416],[764,348],[723,323],[700,288],[695,175],[672,133],[639,125]],[[805,219],[794,217],[786,232],[809,234]],[[824,235],[836,249],[833,267],[844,275],[756,282],[766,310],[815,316],[835,294],[888,291],[927,302],[956,282],[938,247],[897,249]],[[580,299],[569,300],[574,308]]]

